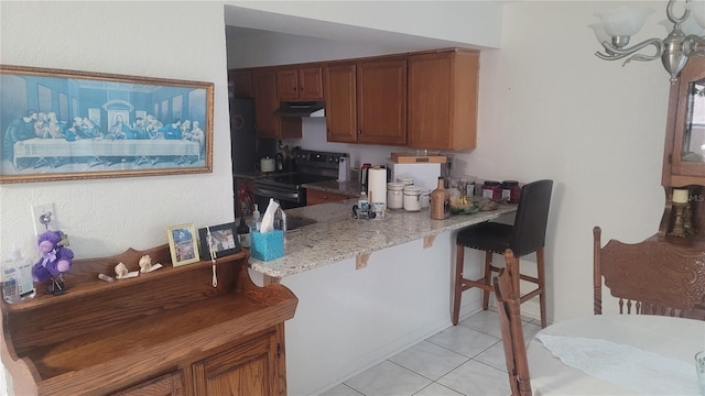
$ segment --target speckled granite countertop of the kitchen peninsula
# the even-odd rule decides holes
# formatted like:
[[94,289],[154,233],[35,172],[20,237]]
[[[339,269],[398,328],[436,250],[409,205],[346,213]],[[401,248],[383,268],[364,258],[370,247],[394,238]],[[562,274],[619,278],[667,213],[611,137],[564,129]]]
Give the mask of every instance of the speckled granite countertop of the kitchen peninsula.
[[286,232],[284,256],[268,262],[250,257],[250,266],[264,275],[282,278],[517,210],[517,205],[500,205],[497,210],[455,215],[447,220],[431,219],[429,209],[417,212],[388,210],[381,220],[357,220],[351,216],[356,202],[356,199],[348,199],[286,210],[290,219],[303,217],[317,222]]

